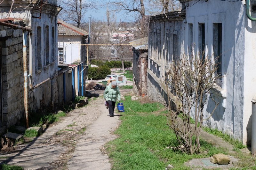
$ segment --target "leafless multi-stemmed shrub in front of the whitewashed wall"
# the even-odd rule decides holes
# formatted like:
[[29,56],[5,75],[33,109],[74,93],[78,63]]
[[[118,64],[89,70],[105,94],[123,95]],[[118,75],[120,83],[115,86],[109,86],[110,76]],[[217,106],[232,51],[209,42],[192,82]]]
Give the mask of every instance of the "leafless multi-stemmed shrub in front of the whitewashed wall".
[[[203,121],[208,119],[203,115],[204,106],[209,98],[215,102],[211,89],[219,78],[214,76],[216,71],[215,61],[198,56],[184,56],[174,61],[171,69],[167,70],[165,87],[170,89],[170,92],[167,90],[170,110],[167,125],[174,130],[182,152],[199,152],[200,129]],[[215,102],[211,115],[217,106]],[[192,115],[195,118],[194,125],[190,122]]]

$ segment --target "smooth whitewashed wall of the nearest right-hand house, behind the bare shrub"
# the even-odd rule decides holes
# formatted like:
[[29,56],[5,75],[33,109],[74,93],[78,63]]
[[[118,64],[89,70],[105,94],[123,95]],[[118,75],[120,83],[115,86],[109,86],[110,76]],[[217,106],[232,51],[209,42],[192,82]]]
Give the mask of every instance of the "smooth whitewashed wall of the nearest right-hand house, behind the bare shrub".
[[[198,23],[205,23],[205,56],[213,54],[213,23],[222,23],[222,84],[215,88],[214,98],[219,106],[204,126],[217,128],[250,143],[252,114],[251,100],[256,93],[255,22],[248,20],[241,2],[190,1],[186,12],[185,50],[188,52],[188,24],[193,24],[194,51],[198,51]],[[194,5],[193,5],[194,4]],[[248,22],[249,21],[249,22]],[[250,26],[248,26],[250,25]],[[255,51],[255,50],[254,50]],[[254,60],[253,60],[254,59]],[[205,106],[205,117],[214,102]],[[248,137],[248,139],[247,139]]]

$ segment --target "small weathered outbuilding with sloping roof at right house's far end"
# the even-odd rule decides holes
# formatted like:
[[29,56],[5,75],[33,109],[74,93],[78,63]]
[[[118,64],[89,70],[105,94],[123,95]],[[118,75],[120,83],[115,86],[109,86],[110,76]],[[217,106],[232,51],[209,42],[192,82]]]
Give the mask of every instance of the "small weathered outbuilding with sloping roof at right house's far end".
[[129,42],[133,51],[133,86],[132,91],[138,95],[146,94],[148,69],[148,37]]

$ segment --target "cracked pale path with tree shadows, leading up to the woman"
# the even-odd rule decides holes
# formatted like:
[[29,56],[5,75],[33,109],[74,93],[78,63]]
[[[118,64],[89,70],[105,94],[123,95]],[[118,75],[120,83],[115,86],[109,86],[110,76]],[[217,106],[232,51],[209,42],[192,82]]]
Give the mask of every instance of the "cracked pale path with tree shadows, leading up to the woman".
[[[122,94],[131,90],[121,91]],[[109,117],[103,91],[94,91],[85,107],[68,113],[29,144],[15,146],[15,152],[0,155],[0,164],[24,169],[110,169],[108,156],[100,148],[115,136],[118,116]],[[86,129],[86,130],[85,130]]]

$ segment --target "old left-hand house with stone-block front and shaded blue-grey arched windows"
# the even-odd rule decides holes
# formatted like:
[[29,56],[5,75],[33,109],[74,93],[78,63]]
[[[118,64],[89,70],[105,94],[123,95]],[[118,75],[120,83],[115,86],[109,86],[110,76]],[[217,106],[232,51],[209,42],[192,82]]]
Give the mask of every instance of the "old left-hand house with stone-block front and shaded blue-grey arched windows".
[[25,118],[28,126],[29,113],[81,95],[82,78],[78,67],[58,68],[57,0],[6,0],[0,9],[0,122],[8,128]]

